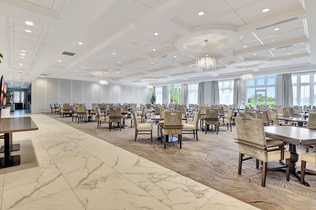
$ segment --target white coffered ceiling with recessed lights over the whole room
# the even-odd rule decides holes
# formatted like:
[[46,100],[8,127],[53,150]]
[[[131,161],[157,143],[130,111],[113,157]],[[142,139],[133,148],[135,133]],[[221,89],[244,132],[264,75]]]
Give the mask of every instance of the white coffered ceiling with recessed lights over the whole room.
[[[0,0],[0,73],[26,88],[40,76],[158,86],[316,70],[315,9],[316,0]],[[216,70],[195,67],[204,39]]]

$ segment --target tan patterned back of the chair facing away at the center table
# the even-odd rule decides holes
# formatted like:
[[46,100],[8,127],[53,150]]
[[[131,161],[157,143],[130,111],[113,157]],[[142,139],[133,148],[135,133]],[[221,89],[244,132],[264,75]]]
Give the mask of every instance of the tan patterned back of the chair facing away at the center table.
[[182,111],[164,111],[163,134],[182,134]]

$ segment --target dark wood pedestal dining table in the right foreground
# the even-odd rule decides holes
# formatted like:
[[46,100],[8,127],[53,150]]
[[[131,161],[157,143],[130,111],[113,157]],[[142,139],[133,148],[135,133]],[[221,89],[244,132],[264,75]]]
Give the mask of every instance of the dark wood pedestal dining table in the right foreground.
[[[291,153],[290,173],[301,180],[300,175],[296,173],[295,167],[299,159],[296,146],[315,145],[316,130],[298,126],[266,126],[264,130],[266,137],[289,143],[289,152]],[[304,181],[304,184],[310,186],[306,181]]]

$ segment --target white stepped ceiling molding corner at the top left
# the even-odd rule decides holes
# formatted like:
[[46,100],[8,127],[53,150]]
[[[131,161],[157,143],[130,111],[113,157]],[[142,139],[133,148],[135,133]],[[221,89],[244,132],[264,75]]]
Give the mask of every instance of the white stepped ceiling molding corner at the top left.
[[62,18],[62,16],[64,15],[65,11],[67,10],[71,2],[71,0],[62,0],[57,10],[54,11],[52,9],[48,9],[48,8],[42,7],[40,5],[25,1],[25,0],[0,0],[0,1],[3,3],[11,4],[16,7],[20,7],[20,8],[27,9],[33,12],[37,12],[49,17],[53,17],[56,19]]

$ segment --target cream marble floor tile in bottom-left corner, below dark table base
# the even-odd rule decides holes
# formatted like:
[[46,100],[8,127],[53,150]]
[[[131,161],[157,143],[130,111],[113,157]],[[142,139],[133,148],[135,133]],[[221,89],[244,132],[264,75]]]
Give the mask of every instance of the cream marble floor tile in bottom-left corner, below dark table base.
[[6,168],[1,209],[6,210],[69,188],[51,160]]

